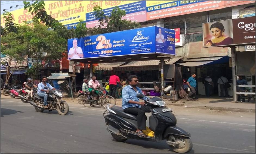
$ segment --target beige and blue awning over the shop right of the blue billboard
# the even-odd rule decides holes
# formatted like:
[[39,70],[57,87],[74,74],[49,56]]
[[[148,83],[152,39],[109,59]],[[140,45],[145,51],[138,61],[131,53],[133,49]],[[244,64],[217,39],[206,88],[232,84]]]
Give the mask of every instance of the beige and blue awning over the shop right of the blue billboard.
[[229,62],[228,56],[220,57],[216,60],[210,60],[210,61],[187,61],[184,63],[177,63],[179,65],[187,66],[187,67],[195,67],[195,66],[201,66],[201,65],[211,65],[211,64],[224,64]]

